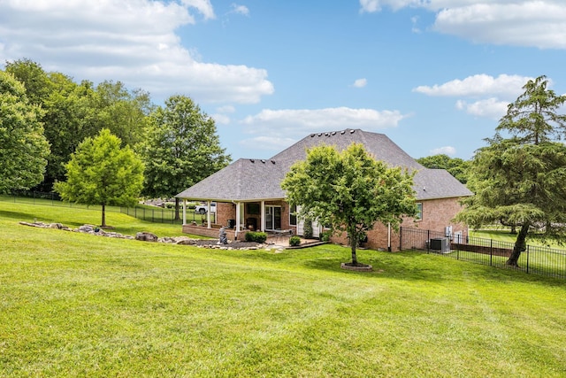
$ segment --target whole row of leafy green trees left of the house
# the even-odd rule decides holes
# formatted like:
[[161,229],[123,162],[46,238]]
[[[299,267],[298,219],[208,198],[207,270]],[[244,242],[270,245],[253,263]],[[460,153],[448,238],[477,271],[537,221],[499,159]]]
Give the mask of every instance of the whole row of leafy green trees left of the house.
[[[157,106],[147,91],[127,89],[120,81],[75,82],[24,58],[6,62],[0,71],[0,100],[0,192],[56,189],[72,201],[96,197],[104,198],[97,204],[133,204],[140,195],[172,197],[231,161],[214,120],[188,96],[171,96]],[[93,146],[102,150],[95,153]],[[109,147],[130,158],[119,163],[119,154],[104,150]],[[83,156],[76,157],[78,152]],[[85,188],[72,194],[65,184],[75,180],[92,188],[88,179],[94,180],[97,167],[106,167],[96,177],[101,183],[110,174],[125,174],[124,165],[138,166],[126,180],[139,189],[135,196],[118,190],[79,197]]]

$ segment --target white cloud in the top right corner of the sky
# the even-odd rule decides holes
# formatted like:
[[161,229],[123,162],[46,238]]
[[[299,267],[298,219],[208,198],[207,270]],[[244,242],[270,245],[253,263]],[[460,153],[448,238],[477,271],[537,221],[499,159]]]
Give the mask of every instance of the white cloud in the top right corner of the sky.
[[478,43],[566,49],[562,0],[360,0],[360,12],[405,7],[434,12],[432,30]]

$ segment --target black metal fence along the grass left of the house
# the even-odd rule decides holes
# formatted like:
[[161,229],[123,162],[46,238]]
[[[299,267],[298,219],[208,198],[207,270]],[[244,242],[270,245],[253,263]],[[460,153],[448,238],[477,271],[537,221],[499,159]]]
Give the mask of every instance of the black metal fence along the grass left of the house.
[[[51,206],[72,207],[76,209],[102,210],[102,206],[100,205],[73,204],[71,202],[63,202],[61,201],[61,197],[59,197],[59,195],[55,192],[41,192],[35,190],[15,191],[11,193],[10,196],[0,197],[0,200],[19,204],[43,204]],[[162,208],[142,204],[134,207],[106,206],[106,211],[122,212],[139,220],[147,220],[154,223],[171,223],[179,225],[183,223],[182,204],[179,213],[180,219],[175,219],[176,217],[174,208]],[[205,222],[206,220],[206,214],[195,212],[194,209],[187,209],[187,222],[195,221],[197,223],[201,223]],[[214,212],[210,213],[210,220],[212,223],[216,223],[216,214]]]

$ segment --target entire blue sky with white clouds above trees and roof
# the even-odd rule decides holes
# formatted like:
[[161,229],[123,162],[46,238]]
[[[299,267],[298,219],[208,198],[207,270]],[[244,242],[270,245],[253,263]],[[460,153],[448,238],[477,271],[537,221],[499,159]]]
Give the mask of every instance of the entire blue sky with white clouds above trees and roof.
[[19,58],[190,96],[233,159],[345,128],[467,159],[529,79],[566,94],[566,2],[0,0]]

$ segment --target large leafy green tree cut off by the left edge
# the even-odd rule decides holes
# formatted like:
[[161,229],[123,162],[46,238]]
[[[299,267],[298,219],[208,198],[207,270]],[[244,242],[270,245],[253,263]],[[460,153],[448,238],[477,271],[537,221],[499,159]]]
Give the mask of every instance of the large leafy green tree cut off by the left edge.
[[50,146],[41,116],[23,84],[0,71],[0,193],[29,189],[43,180]]

